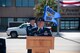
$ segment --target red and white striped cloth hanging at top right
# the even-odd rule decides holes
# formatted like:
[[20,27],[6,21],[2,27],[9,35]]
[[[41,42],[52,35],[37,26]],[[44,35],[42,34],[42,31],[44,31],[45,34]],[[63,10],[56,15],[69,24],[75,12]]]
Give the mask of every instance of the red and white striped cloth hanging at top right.
[[63,7],[80,6],[80,0],[60,0],[60,4]]

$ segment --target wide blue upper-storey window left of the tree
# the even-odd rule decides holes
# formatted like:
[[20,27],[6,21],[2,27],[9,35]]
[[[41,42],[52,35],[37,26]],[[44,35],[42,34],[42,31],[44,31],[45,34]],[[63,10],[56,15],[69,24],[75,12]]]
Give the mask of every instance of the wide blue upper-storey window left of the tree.
[[34,0],[16,0],[17,7],[34,7]]

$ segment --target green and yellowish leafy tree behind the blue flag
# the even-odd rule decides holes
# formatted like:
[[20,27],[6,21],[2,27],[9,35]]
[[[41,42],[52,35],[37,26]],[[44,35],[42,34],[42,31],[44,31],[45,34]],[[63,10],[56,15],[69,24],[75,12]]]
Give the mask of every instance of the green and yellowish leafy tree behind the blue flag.
[[[47,2],[47,4],[46,4],[46,2]],[[56,4],[55,0],[39,0],[39,3],[37,5],[35,5],[35,7],[34,7],[35,8],[34,15],[36,16],[36,18],[40,18],[43,16],[45,5],[48,5],[52,9],[57,11],[57,4]]]

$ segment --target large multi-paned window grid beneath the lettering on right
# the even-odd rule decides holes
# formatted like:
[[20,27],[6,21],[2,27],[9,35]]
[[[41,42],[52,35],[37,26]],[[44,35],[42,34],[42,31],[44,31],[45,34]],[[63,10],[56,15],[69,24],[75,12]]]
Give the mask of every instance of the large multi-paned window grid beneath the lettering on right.
[[79,27],[79,18],[62,18],[61,29],[75,30]]

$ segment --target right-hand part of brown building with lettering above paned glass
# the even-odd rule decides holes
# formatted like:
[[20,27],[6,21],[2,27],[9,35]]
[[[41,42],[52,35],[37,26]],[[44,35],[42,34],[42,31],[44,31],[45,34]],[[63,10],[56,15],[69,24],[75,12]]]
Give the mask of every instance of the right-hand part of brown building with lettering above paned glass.
[[61,9],[60,29],[80,31],[80,6],[61,7]]

